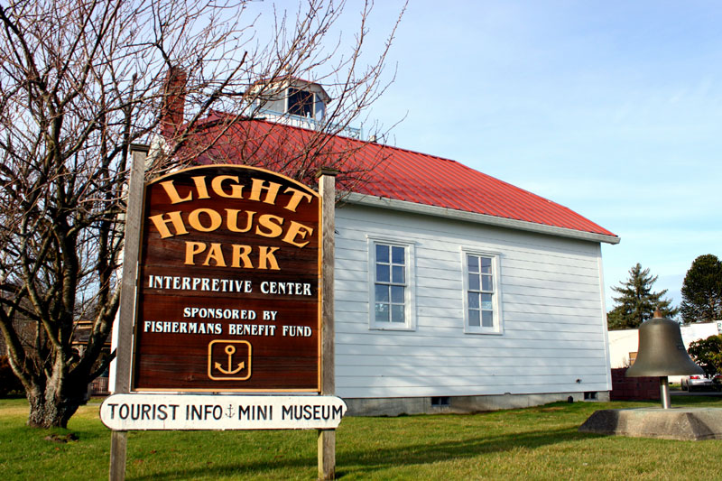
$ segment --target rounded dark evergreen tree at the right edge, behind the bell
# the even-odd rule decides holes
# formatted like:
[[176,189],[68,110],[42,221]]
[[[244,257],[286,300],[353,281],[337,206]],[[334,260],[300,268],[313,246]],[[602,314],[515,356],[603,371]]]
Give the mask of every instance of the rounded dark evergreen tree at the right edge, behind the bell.
[[722,262],[717,255],[700,255],[682,283],[680,305],[684,322],[722,319]]

